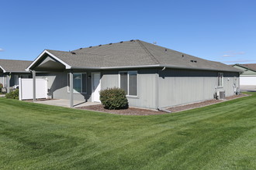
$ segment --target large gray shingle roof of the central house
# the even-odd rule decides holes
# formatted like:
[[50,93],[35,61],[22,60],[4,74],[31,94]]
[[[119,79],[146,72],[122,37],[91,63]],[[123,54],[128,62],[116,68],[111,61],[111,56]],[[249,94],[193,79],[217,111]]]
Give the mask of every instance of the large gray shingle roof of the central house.
[[140,40],[110,43],[70,52],[49,50],[73,68],[109,68],[133,66],[169,66],[194,70],[240,72],[232,66],[209,61]]

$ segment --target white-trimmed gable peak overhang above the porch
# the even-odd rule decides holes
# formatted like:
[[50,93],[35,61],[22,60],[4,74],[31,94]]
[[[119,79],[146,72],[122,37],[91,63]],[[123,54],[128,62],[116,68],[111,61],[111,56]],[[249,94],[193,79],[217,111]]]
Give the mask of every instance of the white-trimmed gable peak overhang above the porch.
[[37,56],[37,58],[33,61],[33,63],[31,63],[29,65],[29,67],[26,68],[26,71],[29,70],[33,70],[32,68],[36,65],[38,65],[41,61],[41,59],[43,58],[43,56],[45,56],[45,54],[49,55],[50,57],[52,57],[53,59],[56,59],[58,62],[62,63],[65,66],[65,69],[71,69],[71,66],[69,66],[67,63],[65,63],[64,61],[62,61],[61,59],[59,59],[57,56],[54,56],[54,54],[50,53],[49,51],[47,51],[46,49],[43,50],[42,53],[40,53],[39,56]]

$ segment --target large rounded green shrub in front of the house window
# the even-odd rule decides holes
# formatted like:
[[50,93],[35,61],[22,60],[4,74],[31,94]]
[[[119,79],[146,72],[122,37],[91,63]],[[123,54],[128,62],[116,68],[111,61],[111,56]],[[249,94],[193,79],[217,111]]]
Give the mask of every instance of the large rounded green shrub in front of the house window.
[[128,108],[126,92],[119,88],[108,88],[99,92],[99,100],[107,109],[125,109]]

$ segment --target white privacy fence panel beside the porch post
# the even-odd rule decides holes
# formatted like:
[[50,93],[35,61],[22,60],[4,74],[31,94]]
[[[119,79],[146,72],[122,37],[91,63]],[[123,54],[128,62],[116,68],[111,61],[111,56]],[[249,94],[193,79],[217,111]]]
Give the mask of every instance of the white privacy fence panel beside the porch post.
[[[36,99],[47,98],[47,79],[36,79]],[[19,78],[19,100],[33,99],[33,79]]]

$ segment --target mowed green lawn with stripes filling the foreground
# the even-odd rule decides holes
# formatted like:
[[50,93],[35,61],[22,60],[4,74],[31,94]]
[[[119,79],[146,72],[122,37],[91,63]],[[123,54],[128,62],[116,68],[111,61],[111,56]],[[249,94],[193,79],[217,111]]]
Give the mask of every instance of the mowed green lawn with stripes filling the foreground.
[[0,98],[0,169],[256,169],[256,93],[154,116]]

